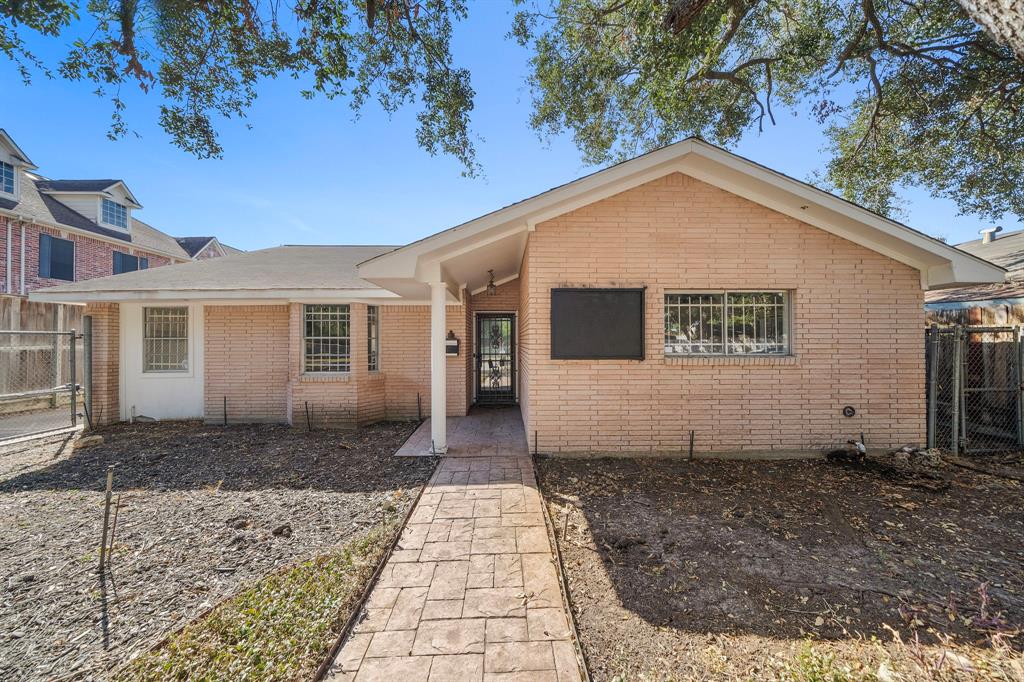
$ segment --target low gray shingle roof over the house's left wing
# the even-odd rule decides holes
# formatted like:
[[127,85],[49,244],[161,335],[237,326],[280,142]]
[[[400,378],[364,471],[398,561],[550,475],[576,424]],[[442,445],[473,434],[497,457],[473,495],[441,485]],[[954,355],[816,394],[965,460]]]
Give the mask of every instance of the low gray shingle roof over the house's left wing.
[[356,265],[393,246],[283,246],[249,251],[230,258],[211,258],[167,267],[154,267],[36,292],[56,300],[70,294],[156,292],[180,293],[193,298],[197,292],[276,290],[379,290],[362,280]]

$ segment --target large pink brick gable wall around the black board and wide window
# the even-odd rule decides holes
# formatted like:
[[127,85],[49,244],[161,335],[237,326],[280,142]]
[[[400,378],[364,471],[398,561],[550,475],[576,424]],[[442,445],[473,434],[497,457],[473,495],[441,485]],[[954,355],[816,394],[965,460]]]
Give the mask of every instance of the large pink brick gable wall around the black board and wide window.
[[[674,174],[538,225],[520,276],[541,452],[678,452],[690,429],[697,452],[924,439],[919,272],[821,229]],[[643,286],[645,360],[550,358],[552,288]],[[666,357],[674,289],[791,290],[794,356]]]

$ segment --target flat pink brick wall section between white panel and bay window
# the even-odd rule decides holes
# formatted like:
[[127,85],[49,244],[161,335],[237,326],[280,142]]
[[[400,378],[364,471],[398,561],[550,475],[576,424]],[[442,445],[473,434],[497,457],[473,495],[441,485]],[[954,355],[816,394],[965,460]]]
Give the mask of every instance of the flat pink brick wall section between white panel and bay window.
[[204,308],[204,413],[220,423],[288,421],[287,305]]

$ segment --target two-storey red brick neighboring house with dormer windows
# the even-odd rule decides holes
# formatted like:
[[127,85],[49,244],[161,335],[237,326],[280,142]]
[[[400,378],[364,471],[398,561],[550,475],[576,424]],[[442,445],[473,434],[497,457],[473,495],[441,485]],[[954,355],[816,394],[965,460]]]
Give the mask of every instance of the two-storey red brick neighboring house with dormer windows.
[[0,130],[0,294],[236,251],[215,238],[176,240],[139,220],[142,207],[123,180],[53,180],[36,170]]

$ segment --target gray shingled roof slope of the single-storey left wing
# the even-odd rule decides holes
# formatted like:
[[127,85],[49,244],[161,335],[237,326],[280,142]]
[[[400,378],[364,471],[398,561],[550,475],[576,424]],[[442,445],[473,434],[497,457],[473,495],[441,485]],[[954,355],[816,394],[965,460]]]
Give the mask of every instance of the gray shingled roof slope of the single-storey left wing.
[[283,246],[155,267],[31,294],[41,301],[132,299],[332,299],[394,298],[359,278],[356,264],[394,250],[391,246]]

